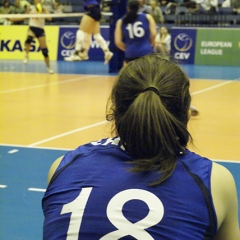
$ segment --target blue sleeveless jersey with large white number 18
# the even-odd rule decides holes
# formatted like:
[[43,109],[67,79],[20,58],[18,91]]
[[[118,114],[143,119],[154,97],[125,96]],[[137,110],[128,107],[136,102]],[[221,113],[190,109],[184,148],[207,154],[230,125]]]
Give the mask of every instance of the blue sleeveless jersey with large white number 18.
[[210,160],[186,150],[156,187],[159,173],[133,173],[131,161],[119,138],[67,153],[42,200],[43,239],[212,239]]

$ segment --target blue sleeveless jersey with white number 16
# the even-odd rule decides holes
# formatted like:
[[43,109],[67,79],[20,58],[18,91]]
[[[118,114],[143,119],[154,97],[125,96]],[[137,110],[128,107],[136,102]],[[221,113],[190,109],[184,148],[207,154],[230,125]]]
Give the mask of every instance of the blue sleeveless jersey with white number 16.
[[134,23],[122,24],[122,33],[126,58],[138,58],[153,52],[146,14],[139,13]]

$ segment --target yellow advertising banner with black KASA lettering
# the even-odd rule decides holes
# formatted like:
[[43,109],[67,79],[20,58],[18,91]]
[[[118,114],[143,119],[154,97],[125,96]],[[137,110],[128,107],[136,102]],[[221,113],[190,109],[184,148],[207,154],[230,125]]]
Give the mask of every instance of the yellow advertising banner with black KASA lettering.
[[[12,26],[0,26],[0,59],[24,59],[25,53],[25,41],[27,38],[28,26],[12,25]],[[59,27],[58,26],[46,26],[46,39],[49,50],[49,57],[51,61],[57,58],[57,42]],[[42,60],[43,55],[37,39],[31,44],[30,60]]]

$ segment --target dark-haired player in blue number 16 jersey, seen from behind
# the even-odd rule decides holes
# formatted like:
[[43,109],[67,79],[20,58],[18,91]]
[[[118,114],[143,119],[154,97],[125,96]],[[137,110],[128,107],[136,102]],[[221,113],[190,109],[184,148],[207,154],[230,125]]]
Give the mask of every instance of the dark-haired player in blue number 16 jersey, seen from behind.
[[156,23],[150,14],[139,13],[138,0],[129,0],[128,13],[117,21],[115,44],[125,51],[126,63],[153,52]]

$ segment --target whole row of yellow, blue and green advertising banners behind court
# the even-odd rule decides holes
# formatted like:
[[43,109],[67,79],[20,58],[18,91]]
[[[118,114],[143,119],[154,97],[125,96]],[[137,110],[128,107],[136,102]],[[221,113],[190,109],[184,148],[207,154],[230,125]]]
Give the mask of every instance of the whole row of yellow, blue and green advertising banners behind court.
[[[28,26],[0,26],[0,59],[22,60]],[[78,26],[46,26],[45,32],[51,61],[63,60],[74,50]],[[101,33],[109,44],[109,26]],[[240,66],[240,30],[235,28],[171,29],[172,55],[182,63],[198,65]],[[42,60],[39,45],[32,43],[30,60]],[[102,61],[103,53],[93,39],[91,60]]]

